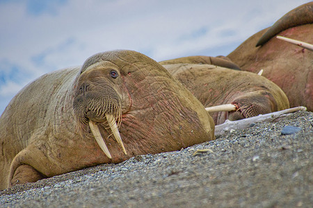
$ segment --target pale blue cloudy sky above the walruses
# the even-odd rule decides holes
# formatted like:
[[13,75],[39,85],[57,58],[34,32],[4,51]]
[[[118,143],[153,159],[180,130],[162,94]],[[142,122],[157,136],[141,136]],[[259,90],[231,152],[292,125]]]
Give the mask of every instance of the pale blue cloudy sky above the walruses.
[[0,0],[0,114],[50,71],[115,49],[154,60],[228,55],[309,1]]

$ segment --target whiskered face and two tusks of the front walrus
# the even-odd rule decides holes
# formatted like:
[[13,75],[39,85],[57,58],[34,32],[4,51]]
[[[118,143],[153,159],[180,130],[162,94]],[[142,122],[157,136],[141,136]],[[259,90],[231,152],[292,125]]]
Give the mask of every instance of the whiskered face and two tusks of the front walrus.
[[[104,153],[111,158],[97,127],[97,123],[108,123],[116,141],[126,155],[118,125],[116,125],[116,121],[118,124],[122,121],[122,93],[118,87],[115,87],[115,84],[120,83],[119,70],[111,62],[93,63],[91,60],[97,59],[90,58],[83,64],[74,95],[73,107],[75,119],[80,124],[79,132],[86,136],[91,136],[90,133],[92,133]],[[88,131],[87,124],[91,132]]]

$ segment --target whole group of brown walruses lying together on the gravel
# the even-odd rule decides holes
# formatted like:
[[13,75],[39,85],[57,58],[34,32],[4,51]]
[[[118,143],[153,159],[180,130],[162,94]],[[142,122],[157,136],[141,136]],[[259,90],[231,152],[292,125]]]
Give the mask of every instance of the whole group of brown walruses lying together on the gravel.
[[[210,141],[226,119],[298,105],[312,111],[313,52],[275,38],[310,44],[312,23],[310,2],[226,57],[156,62],[107,51],[41,76],[0,117],[0,189]],[[232,108],[204,108],[223,104]]]

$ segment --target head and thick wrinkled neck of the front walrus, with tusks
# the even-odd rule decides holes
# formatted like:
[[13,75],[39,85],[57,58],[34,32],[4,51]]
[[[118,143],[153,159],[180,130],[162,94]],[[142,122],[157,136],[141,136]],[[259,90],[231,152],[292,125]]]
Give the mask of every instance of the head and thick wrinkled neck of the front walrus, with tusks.
[[[118,155],[115,162],[126,158],[116,149],[128,157],[214,138],[213,120],[203,105],[159,63],[135,51],[88,58],[74,84],[73,108],[81,137],[95,137],[107,157],[113,151]],[[197,139],[190,139],[196,129]],[[109,139],[112,134],[119,148]]]

